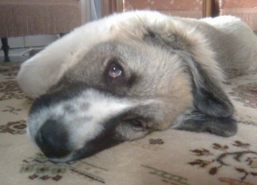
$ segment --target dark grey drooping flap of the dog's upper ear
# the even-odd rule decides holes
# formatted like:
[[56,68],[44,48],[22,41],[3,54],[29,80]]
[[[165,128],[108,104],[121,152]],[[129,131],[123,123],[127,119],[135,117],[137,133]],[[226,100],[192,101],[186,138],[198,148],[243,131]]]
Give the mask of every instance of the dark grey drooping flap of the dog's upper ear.
[[[184,58],[186,58],[184,61],[192,75],[192,93],[196,109],[214,117],[232,116],[234,108],[222,88],[221,79],[210,76],[208,73],[211,73],[212,69],[203,69],[191,57]],[[222,74],[218,73],[217,75]]]

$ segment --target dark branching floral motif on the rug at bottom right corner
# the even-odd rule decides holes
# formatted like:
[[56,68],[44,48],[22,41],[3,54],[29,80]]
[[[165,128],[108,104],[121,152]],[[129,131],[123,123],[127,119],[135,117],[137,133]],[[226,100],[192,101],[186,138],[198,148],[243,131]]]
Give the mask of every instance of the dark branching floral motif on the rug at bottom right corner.
[[[251,184],[247,182],[248,176],[257,177],[257,152],[251,150],[249,143],[238,140],[230,146],[213,143],[210,149],[201,148],[190,151],[197,156],[197,159],[190,161],[189,165],[204,168],[210,175],[217,175],[221,169],[227,168],[229,171],[238,173],[239,179],[236,181],[241,181],[242,184]],[[240,166],[237,166],[238,163]],[[221,181],[226,181],[226,179],[229,178],[219,178]]]

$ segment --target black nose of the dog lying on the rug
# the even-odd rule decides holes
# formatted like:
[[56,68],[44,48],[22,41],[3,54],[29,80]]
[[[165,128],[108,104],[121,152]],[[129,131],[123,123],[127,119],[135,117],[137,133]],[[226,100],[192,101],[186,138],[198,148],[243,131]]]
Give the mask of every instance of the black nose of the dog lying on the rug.
[[61,158],[70,153],[68,133],[56,120],[47,120],[36,135],[35,141],[48,158]]

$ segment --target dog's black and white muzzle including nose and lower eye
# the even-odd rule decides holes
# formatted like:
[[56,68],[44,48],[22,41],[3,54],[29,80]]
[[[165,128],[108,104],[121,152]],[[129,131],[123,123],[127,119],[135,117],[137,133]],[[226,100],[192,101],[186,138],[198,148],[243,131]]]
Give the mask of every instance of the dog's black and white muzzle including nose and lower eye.
[[150,132],[145,125],[149,118],[132,111],[138,105],[124,97],[76,86],[36,99],[29,113],[27,133],[50,160],[89,157]]

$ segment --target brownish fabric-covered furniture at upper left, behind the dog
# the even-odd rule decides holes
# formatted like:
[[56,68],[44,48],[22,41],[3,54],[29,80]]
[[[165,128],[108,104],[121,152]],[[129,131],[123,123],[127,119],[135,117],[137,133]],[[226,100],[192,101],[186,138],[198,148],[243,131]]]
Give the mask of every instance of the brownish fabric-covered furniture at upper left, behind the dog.
[[70,32],[81,25],[79,0],[2,0],[0,37]]

